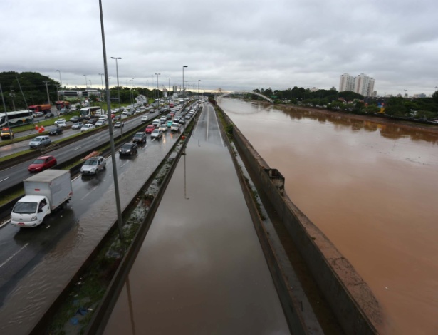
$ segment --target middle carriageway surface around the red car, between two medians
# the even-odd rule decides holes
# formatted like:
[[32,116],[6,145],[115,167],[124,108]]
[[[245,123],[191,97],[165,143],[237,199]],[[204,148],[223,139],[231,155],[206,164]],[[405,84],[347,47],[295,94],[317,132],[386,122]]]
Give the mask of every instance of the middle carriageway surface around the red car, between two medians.
[[[132,118],[126,121],[123,131],[132,130],[133,128],[137,127],[140,123],[140,119],[141,117]],[[117,135],[117,129],[116,131],[113,130],[113,133]],[[108,143],[109,139],[109,131],[102,131],[100,133],[90,135],[87,138],[80,139],[77,142],[71,143],[70,145],[66,145],[63,148],[53,150],[49,153],[46,153],[46,155],[53,155],[58,163],[63,163],[80,153],[83,153],[84,156],[88,155],[88,153],[92,152],[96,147],[103,145],[104,143]],[[1,170],[0,190],[6,190],[7,188],[17,185],[21,183],[22,180],[26,179],[26,177],[29,175],[27,171],[28,165],[30,165],[32,162],[33,159],[14,165],[11,168]]]

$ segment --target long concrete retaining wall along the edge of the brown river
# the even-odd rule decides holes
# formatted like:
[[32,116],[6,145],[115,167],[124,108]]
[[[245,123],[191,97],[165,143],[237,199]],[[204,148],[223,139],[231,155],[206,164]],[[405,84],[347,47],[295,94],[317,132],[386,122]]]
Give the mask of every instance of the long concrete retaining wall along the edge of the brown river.
[[[217,108],[232,125],[223,110]],[[323,232],[291,202],[283,190],[281,173],[269,167],[235,125],[232,129],[234,144],[249,165],[246,168],[254,172],[261,185],[259,192],[271,200],[345,334],[378,334],[382,330],[382,311],[368,285]]]

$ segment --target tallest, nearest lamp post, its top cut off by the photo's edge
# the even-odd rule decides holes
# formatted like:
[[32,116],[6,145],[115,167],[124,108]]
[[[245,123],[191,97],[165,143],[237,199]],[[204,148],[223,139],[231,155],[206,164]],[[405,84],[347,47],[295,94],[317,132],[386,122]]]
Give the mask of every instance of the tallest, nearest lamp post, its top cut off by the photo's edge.
[[[102,0],[99,0],[99,11],[100,11],[100,29],[102,31],[103,68],[104,68],[104,72],[105,72],[106,100],[107,100],[107,106],[108,106],[108,130],[110,131],[111,158],[113,159],[113,162],[115,162],[113,119],[111,118],[110,87],[109,87],[109,83],[108,83],[108,66],[107,66],[107,61],[106,61],[105,31],[103,29]],[[111,58],[113,58],[113,57],[111,57]],[[116,60],[116,62],[117,62],[117,60]],[[119,99],[119,103],[120,103],[120,99]],[[120,129],[122,129],[122,127],[120,127]],[[122,221],[122,210],[120,207],[118,173],[117,173],[116,164],[111,164],[111,165],[113,165],[115,205],[117,207],[119,237],[120,237],[120,239],[123,239],[123,221]]]

